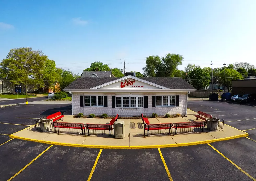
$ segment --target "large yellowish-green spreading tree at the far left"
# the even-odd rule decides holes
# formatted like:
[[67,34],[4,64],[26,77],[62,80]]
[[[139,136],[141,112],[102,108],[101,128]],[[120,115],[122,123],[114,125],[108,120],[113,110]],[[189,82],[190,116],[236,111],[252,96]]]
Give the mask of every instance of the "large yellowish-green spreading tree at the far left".
[[[55,62],[41,50],[32,50],[31,47],[10,49],[7,57],[0,63],[2,76],[7,76],[13,85],[21,85],[21,91],[25,92],[28,73],[28,84],[35,87],[51,84],[56,74],[48,74],[55,71]],[[47,75],[48,74],[48,75]]]

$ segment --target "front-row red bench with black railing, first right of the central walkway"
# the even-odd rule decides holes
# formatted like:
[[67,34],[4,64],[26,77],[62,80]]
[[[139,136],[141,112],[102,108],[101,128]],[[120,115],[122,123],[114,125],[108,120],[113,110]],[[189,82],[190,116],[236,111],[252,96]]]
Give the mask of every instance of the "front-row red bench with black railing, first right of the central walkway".
[[172,123],[160,123],[160,124],[145,124],[144,123],[144,137],[147,131],[147,136],[158,134],[170,134]]

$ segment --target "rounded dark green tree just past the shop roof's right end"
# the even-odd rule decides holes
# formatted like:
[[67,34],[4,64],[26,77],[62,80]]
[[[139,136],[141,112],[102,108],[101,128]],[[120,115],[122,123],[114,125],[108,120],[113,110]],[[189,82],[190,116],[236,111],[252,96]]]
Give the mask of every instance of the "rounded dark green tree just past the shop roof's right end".
[[199,67],[196,67],[191,73],[190,73],[191,83],[194,88],[201,89],[203,87],[209,86],[210,83],[210,75],[205,69],[201,69]]

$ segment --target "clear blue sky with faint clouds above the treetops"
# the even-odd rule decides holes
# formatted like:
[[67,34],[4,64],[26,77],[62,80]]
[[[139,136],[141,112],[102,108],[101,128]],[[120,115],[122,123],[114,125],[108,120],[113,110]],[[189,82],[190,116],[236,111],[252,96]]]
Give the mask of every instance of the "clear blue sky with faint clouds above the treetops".
[[[256,1],[1,1],[0,60],[15,47],[40,49],[81,73],[91,62],[140,71],[149,55],[187,64],[256,66]],[[122,59],[122,60],[120,60]]]

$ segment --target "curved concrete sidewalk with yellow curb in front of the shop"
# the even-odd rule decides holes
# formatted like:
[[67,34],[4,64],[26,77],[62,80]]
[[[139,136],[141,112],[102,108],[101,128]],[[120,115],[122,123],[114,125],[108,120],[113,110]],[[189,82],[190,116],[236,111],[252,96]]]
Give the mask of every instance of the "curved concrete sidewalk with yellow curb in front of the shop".
[[[90,118],[72,118],[72,115],[65,115],[63,122],[76,123],[109,123],[111,119],[90,119]],[[11,138],[25,139],[41,143],[77,146],[77,147],[93,147],[93,148],[161,148],[195,145],[203,143],[211,143],[215,141],[228,140],[248,136],[247,133],[237,130],[228,125],[224,125],[224,131],[205,131],[203,133],[181,133],[168,135],[150,135],[144,138],[144,129],[139,127],[142,125],[141,119],[118,119],[125,122],[125,138],[115,139],[108,135],[71,135],[57,133],[35,132],[34,126],[26,128],[22,131],[10,135]],[[149,118],[150,123],[168,123],[168,122],[191,122],[195,121],[194,115],[178,118]],[[200,120],[197,120],[200,121]],[[61,122],[61,121],[60,121]],[[135,124],[135,128],[130,128],[130,123]],[[87,131],[87,130],[85,130]],[[166,130],[167,132],[167,130]],[[173,132],[173,128],[171,129]],[[113,134],[113,130],[112,130]]]

